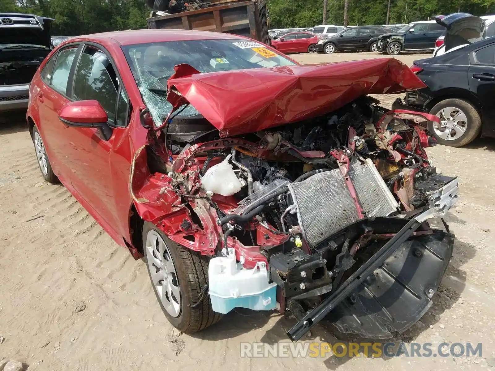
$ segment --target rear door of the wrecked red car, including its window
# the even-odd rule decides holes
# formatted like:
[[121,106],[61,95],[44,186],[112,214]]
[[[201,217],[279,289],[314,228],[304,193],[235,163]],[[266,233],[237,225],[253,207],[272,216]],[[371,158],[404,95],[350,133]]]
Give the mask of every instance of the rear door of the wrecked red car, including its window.
[[66,46],[51,57],[42,70],[43,84],[37,96],[32,97],[40,102],[39,126],[49,160],[64,184],[70,182],[70,160],[67,157],[69,127],[59,120],[58,112],[70,101],[67,96],[68,80],[78,47],[79,44]]

